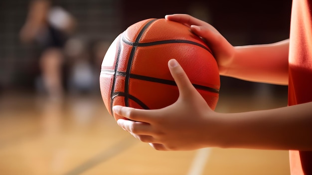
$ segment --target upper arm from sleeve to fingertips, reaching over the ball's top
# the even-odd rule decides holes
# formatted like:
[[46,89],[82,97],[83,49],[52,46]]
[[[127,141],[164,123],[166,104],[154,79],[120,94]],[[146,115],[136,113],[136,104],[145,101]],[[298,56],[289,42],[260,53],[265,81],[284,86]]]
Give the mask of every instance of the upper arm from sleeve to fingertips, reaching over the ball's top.
[[212,25],[187,14],[166,15],[166,19],[190,26],[211,48],[220,75],[248,81],[288,84],[289,40],[272,44],[232,46]]

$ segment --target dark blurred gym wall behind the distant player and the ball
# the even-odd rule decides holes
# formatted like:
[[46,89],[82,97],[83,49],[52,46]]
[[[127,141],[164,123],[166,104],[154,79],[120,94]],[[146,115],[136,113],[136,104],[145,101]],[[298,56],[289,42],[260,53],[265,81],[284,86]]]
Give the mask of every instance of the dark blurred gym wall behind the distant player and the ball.
[[[29,5],[30,0],[0,2],[2,91],[33,91],[39,86],[38,55],[42,51],[38,47],[41,45],[35,43],[35,39],[24,43],[20,37],[30,10]],[[74,62],[78,62],[77,57],[84,57],[92,67],[93,76],[98,76],[107,47],[119,33],[139,20],[162,18],[170,13],[189,13],[210,22],[233,45],[270,43],[289,36],[291,0],[159,0],[153,4],[147,4],[145,0],[52,0],[51,7],[55,6],[64,8],[76,22],[74,31],[68,36],[67,48],[63,47],[67,51],[63,60],[63,86],[69,90],[70,86],[75,86],[70,83],[74,81],[75,75],[71,76],[70,73],[74,71],[71,70],[75,67]],[[63,42],[65,45],[65,41]],[[76,58],[69,58],[70,56]],[[228,87],[257,88],[252,83],[224,77],[222,80],[223,90]],[[92,90],[98,91],[99,88],[95,85],[98,78],[94,81]],[[237,86],[233,87],[233,84]]]

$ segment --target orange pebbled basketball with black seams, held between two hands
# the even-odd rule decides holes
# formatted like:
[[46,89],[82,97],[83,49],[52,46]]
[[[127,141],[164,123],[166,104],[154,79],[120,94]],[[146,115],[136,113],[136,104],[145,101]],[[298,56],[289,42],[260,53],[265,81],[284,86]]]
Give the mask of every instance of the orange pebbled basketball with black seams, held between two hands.
[[160,109],[173,104],[179,91],[167,66],[172,58],[214,110],[220,75],[209,47],[181,23],[150,18],[118,35],[104,56],[100,90],[108,112],[113,116],[115,105]]

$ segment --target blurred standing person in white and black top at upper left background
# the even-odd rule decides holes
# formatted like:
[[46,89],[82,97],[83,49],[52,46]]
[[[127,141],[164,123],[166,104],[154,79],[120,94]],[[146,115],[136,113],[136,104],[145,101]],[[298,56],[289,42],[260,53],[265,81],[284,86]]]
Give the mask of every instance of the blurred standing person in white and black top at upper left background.
[[75,18],[64,8],[54,6],[51,0],[30,2],[20,39],[25,44],[35,42],[39,47],[37,88],[50,99],[60,100],[64,95],[63,47],[75,28]]

